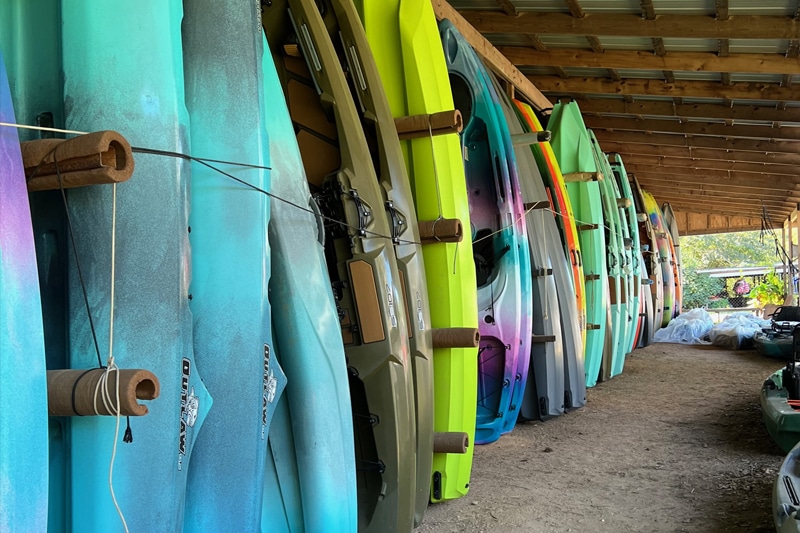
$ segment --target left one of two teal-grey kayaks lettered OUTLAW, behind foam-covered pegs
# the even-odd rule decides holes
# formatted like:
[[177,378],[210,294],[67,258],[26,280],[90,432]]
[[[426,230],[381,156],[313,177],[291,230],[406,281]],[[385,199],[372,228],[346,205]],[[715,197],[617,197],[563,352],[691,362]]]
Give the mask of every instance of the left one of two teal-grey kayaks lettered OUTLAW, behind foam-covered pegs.
[[[62,4],[62,16],[66,127],[114,129],[133,146],[190,152],[181,2],[77,0]],[[121,368],[148,369],[161,384],[149,414],[131,421],[133,442],[117,444],[114,492],[131,531],[152,530],[153,524],[161,531],[183,529],[191,452],[212,403],[192,346],[189,182],[188,161],[138,154],[133,177],[116,186],[116,233],[124,245],[114,260],[114,356]],[[98,358],[105,362],[108,355],[112,195],[112,186],[67,195],[75,254],[102,347],[95,351],[84,283],[70,259],[74,369],[97,367]],[[108,486],[114,425],[109,417],[71,420],[73,531],[120,529]]]

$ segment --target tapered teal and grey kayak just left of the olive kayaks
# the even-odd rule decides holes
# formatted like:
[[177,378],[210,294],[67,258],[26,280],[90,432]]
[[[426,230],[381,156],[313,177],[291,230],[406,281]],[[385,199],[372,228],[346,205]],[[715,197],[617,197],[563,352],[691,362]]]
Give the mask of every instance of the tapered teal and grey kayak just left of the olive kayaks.
[[[262,64],[265,94],[282,98],[269,53]],[[282,199],[271,203],[269,224],[274,356],[291,387],[279,400],[280,414],[270,426],[262,531],[355,531],[353,419],[342,332],[325,263],[325,233],[317,216],[295,207],[315,211],[316,203],[286,106],[265,106],[264,123],[270,139],[271,191]],[[298,524],[297,515],[302,527],[290,527]]]

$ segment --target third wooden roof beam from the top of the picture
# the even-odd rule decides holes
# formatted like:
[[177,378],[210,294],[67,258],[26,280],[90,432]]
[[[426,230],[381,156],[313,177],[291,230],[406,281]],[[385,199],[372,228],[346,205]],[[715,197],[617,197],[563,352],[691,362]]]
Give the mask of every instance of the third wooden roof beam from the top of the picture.
[[[779,56],[780,57],[780,56]],[[669,96],[671,98],[731,98],[747,100],[800,100],[800,90],[779,83],[736,82],[722,85],[714,81],[662,80],[627,78],[611,81],[604,78],[571,77],[563,80],[555,76],[531,76],[539,90],[550,94],[618,94],[642,96]]]

